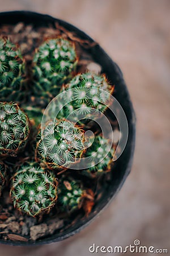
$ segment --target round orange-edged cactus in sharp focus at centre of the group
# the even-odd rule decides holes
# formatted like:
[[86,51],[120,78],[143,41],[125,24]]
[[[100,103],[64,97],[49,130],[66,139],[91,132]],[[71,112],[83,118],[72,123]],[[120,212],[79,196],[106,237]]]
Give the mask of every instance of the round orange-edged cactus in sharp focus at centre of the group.
[[37,158],[59,169],[78,162],[84,152],[84,130],[66,119],[48,123],[37,142]]

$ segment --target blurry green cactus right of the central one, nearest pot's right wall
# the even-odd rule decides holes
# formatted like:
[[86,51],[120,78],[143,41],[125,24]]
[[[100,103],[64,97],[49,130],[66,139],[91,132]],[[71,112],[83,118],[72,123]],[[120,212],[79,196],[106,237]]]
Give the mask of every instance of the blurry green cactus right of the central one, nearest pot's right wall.
[[114,154],[114,148],[111,147],[109,139],[97,135],[94,142],[87,148],[84,157],[88,157],[91,167],[81,171],[81,174],[88,177],[97,177],[111,170],[111,163]]

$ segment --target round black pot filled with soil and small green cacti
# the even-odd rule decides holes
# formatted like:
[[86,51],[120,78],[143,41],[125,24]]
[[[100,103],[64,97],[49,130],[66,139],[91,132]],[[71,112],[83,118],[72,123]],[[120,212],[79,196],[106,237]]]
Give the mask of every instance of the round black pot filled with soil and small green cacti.
[[[0,242],[60,241],[90,223],[129,174],[133,107],[120,69],[82,31],[24,11],[0,20]],[[117,101],[125,147],[113,140]]]

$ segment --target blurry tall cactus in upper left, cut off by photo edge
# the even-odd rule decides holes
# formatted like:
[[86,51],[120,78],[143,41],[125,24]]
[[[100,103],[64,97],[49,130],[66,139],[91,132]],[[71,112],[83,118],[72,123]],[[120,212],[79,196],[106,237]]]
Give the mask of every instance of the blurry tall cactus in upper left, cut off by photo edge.
[[0,101],[21,101],[24,96],[25,64],[19,48],[0,38]]

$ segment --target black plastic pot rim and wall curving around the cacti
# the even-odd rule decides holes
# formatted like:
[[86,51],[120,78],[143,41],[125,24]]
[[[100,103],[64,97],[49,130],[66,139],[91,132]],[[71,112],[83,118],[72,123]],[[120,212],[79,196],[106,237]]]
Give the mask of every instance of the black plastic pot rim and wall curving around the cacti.
[[[43,15],[38,13],[32,13],[29,11],[12,11],[6,13],[0,13],[0,26],[1,24],[16,24],[18,22],[24,22],[25,24],[33,24],[35,27],[46,26],[46,24],[52,24],[54,26],[55,22],[66,30],[74,32],[75,35],[83,40],[88,40],[90,43],[94,43],[94,40],[91,39],[84,32],[80,31],[78,28],[72,26],[69,23],[66,23],[62,20],[55,19],[49,15]],[[3,241],[0,240],[0,243],[6,245],[44,245],[45,243],[52,243],[57,241],[62,241],[63,239],[73,236],[74,234],[80,232],[83,228],[91,223],[105,207],[112,201],[112,199],[117,195],[118,191],[121,189],[126,177],[129,175],[131,170],[131,165],[133,162],[134,146],[135,146],[135,114],[133,110],[133,105],[131,103],[128,89],[122,75],[122,72],[118,65],[114,63],[111,58],[105,53],[105,51],[95,44],[94,47],[87,49],[96,63],[99,63],[102,67],[102,72],[106,73],[109,81],[116,86],[116,93],[114,97],[120,102],[126,118],[128,120],[129,126],[129,136],[128,142],[126,144],[125,150],[116,161],[116,171],[111,172],[111,180],[107,182],[107,189],[105,189],[103,196],[95,204],[92,212],[87,218],[83,218],[76,222],[75,225],[70,226],[63,233],[53,234],[48,238],[42,238],[39,241],[33,242],[13,242],[13,241]],[[112,114],[109,118],[114,120]]]

